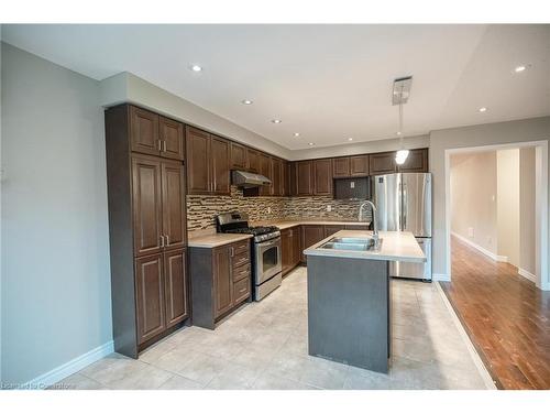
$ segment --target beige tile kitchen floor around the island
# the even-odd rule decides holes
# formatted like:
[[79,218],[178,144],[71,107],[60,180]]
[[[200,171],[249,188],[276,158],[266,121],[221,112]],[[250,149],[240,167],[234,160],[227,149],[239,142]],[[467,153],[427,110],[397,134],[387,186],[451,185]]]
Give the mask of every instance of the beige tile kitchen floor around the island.
[[63,380],[70,389],[485,389],[437,285],[392,281],[388,374],[307,354],[307,273],[215,332],[189,327],[144,351],[113,354]]

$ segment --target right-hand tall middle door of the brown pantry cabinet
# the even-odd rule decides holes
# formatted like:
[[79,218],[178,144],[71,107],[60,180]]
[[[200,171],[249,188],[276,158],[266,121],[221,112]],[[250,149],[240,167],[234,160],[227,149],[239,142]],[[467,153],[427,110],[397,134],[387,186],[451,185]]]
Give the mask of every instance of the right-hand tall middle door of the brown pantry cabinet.
[[162,163],[163,235],[165,247],[182,248],[186,243],[185,172],[178,161]]

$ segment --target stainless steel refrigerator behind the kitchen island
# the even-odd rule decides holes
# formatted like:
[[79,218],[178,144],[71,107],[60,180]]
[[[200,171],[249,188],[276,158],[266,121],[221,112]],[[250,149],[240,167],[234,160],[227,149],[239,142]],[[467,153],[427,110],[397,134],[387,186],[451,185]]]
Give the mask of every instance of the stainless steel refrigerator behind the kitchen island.
[[392,261],[391,275],[431,281],[431,174],[397,173],[372,180],[378,229],[413,232],[427,258],[422,264]]

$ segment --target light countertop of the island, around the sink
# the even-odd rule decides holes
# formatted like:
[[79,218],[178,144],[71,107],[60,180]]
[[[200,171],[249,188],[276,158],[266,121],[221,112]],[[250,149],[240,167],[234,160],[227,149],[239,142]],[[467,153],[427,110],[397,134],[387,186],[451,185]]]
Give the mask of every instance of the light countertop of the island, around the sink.
[[324,242],[328,242],[334,237],[351,237],[351,238],[366,238],[372,237],[372,231],[361,230],[342,230],[338,231],[330,237],[324,238],[322,241],[309,247],[304,251],[306,256],[321,256],[321,257],[338,257],[338,258],[360,258],[366,260],[384,260],[384,261],[405,261],[405,262],[426,262],[420,246],[418,244],[415,236],[411,232],[398,231],[380,231],[380,238],[383,240],[380,250],[377,251],[350,251],[350,250],[336,250],[319,248]]

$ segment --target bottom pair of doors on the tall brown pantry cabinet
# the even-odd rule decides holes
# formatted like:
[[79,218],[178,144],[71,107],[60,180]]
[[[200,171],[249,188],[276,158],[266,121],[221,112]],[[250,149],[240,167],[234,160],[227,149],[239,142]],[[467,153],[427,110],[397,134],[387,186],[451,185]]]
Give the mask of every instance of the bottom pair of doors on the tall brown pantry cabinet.
[[140,345],[189,317],[186,250],[138,258],[135,295]]

